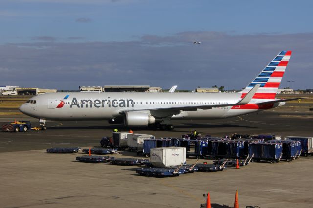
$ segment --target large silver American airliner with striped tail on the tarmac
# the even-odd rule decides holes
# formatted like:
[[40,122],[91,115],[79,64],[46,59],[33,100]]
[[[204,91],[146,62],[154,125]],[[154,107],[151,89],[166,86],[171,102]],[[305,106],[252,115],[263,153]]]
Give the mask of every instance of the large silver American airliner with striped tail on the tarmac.
[[275,99],[291,51],[281,51],[238,93],[73,92],[37,95],[20,111],[46,120],[109,120],[125,126],[173,129],[173,119],[221,119],[245,115],[297,100]]

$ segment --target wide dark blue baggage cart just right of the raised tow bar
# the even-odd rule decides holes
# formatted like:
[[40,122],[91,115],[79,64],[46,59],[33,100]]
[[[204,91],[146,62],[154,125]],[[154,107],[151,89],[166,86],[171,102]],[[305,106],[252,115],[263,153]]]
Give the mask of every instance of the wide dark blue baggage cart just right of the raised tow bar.
[[256,143],[252,142],[249,144],[249,154],[254,155],[252,162],[259,162],[261,160],[279,162],[282,157],[282,143],[264,142]]

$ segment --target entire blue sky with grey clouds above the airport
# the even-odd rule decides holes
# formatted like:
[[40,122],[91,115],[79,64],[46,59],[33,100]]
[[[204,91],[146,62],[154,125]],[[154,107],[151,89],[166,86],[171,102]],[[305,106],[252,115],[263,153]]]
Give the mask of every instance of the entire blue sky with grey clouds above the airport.
[[0,85],[241,89],[292,50],[280,88],[312,89],[312,8],[312,0],[0,0]]

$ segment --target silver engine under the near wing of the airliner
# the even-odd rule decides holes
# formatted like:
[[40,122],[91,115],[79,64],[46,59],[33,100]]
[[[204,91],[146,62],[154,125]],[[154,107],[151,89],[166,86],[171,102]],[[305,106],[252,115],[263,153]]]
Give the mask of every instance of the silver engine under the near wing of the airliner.
[[146,126],[155,122],[155,117],[143,112],[126,112],[124,117],[125,126]]

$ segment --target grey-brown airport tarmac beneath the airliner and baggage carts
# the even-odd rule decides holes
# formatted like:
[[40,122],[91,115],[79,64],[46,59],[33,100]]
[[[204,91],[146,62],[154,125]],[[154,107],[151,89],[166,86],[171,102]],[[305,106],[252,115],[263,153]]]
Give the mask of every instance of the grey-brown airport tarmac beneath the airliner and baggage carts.
[[[11,111],[13,112],[13,111]],[[3,115],[0,124],[24,115]],[[36,119],[30,119],[39,125]],[[174,131],[134,128],[134,133],[156,137],[180,137],[196,129],[212,136],[275,133],[281,136],[312,136],[313,113],[264,111],[224,120],[178,120]],[[174,178],[138,176],[138,166],[113,166],[75,162],[75,154],[47,154],[56,146],[99,146],[101,137],[113,128],[128,131],[123,125],[105,121],[47,122],[47,131],[0,132],[0,207],[4,208],[197,208],[210,191],[211,203],[233,206],[235,191],[239,205],[260,208],[313,207],[313,157],[270,164],[251,163],[239,170],[181,175]],[[136,157],[123,151],[116,157]],[[195,159],[188,159],[188,163]],[[208,160],[200,160],[202,163]],[[212,163],[211,160],[208,161]]]

